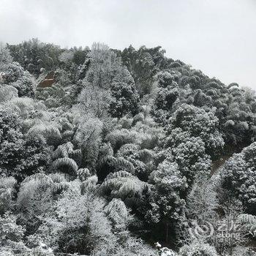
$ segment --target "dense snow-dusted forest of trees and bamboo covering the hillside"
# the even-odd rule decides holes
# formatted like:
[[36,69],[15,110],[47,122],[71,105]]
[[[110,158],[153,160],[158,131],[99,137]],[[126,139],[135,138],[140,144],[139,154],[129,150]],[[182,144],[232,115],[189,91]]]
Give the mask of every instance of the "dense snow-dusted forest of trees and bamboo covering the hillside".
[[[31,39],[0,74],[1,256],[255,255],[254,91],[161,47]],[[233,244],[189,233],[230,217]]]

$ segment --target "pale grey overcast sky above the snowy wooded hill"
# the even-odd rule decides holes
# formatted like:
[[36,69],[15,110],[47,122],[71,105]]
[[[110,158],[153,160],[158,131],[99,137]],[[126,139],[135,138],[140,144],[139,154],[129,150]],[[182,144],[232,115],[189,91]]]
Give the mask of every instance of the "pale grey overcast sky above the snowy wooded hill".
[[0,41],[161,45],[224,83],[256,90],[256,0],[0,0]]

